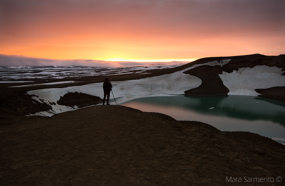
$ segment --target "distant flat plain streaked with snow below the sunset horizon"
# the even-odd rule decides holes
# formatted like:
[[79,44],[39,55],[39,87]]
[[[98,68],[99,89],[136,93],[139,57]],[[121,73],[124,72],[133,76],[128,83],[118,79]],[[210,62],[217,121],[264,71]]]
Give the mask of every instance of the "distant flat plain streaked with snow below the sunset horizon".
[[[95,75],[119,75],[128,73],[147,73],[147,70],[173,68],[180,65],[159,65],[159,66],[137,66],[137,67],[40,67],[40,66],[2,66],[0,67],[0,83],[19,82],[19,79],[26,82],[43,82],[71,77],[76,81],[80,77]],[[22,81],[23,82],[23,81]],[[31,83],[32,84],[32,83]]]

